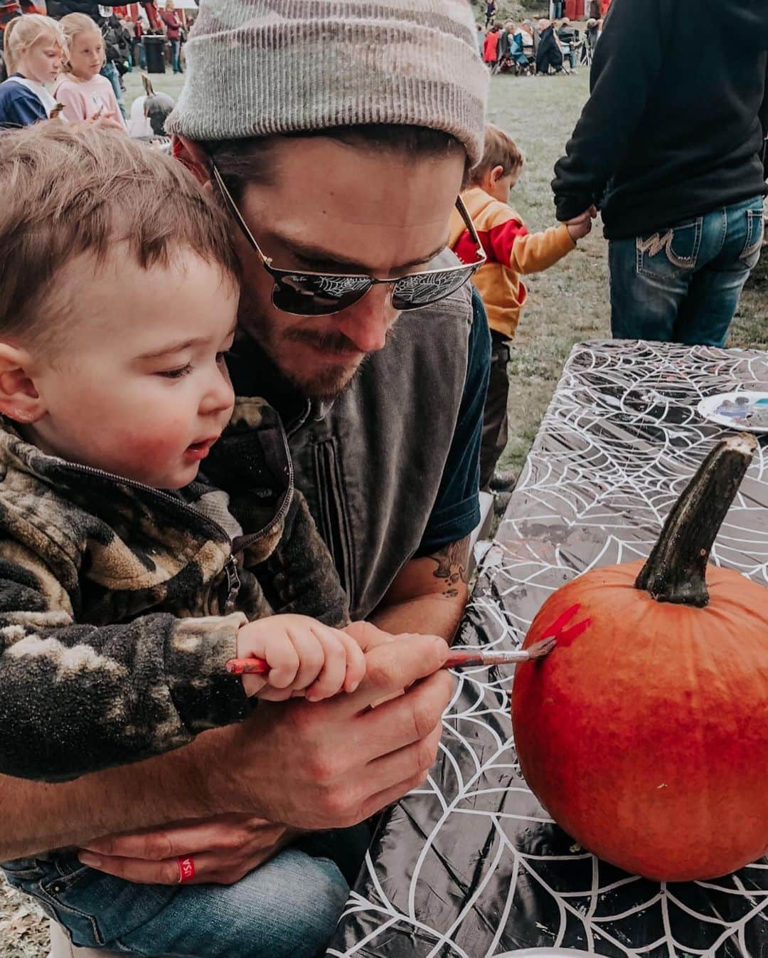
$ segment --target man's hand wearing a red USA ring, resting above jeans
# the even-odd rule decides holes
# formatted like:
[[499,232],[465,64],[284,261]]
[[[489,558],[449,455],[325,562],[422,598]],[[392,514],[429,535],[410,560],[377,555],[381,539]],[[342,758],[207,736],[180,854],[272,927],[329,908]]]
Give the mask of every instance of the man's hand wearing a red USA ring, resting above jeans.
[[192,884],[231,885],[300,833],[254,815],[217,815],[163,829],[111,835],[79,854],[84,865],[138,884],[174,885],[176,859],[194,855]]

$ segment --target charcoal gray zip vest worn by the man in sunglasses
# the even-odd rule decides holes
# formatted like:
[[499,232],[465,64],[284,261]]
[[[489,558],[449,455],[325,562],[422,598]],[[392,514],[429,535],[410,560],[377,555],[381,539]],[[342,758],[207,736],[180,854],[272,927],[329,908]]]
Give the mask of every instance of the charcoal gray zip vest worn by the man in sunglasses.
[[[446,251],[430,268],[455,262]],[[274,394],[261,375],[262,354],[247,341],[237,347],[236,387],[244,370],[280,410],[296,486],[333,556],[353,620],[373,612],[417,553],[437,501],[463,397],[471,288],[403,313],[386,347],[333,402]]]

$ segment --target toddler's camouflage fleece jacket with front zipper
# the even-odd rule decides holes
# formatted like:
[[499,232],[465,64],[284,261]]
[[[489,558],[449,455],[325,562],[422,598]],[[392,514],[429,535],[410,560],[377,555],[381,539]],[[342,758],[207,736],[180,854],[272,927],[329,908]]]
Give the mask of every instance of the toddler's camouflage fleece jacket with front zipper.
[[271,407],[238,399],[205,467],[152,490],[0,425],[0,772],[55,782],[184,745],[249,713],[224,669],[246,621],[346,624]]

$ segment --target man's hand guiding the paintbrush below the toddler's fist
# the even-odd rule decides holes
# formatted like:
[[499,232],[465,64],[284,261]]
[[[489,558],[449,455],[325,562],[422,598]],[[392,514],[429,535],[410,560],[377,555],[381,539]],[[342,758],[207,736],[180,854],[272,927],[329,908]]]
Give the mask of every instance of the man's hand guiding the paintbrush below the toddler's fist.
[[447,655],[442,640],[412,635],[367,652],[366,677],[349,696],[261,702],[251,719],[211,736],[216,801],[299,829],[355,825],[395,802],[435,762],[452,691],[439,671]]

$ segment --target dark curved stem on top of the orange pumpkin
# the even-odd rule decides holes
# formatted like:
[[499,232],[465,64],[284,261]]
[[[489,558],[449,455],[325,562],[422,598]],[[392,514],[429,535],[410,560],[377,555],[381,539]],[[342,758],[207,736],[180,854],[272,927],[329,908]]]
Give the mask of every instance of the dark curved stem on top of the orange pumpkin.
[[757,440],[750,433],[718,443],[690,480],[635,581],[657,602],[708,604],[707,562],[726,513],[752,462]]

